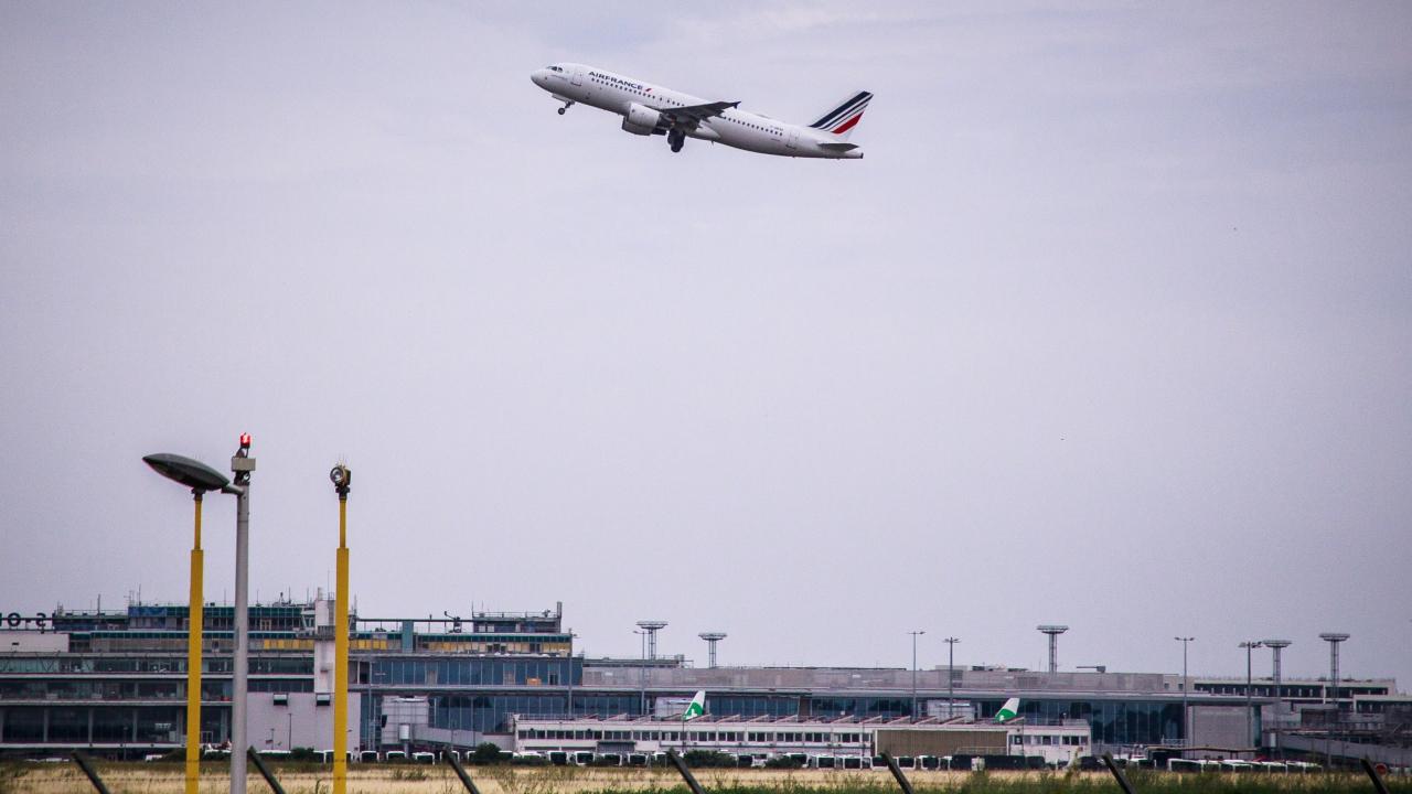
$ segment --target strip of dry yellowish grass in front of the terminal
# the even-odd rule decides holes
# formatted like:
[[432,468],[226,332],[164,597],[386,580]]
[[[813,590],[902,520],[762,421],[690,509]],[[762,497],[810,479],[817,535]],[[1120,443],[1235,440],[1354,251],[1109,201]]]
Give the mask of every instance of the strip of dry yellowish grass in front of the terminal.
[[[113,794],[181,794],[181,764],[104,763],[99,766]],[[250,794],[270,794],[251,767]],[[576,767],[472,767],[481,794],[688,794],[675,770]],[[329,794],[332,770],[316,764],[282,764],[275,774],[288,794]],[[909,773],[918,793],[966,794],[1121,794],[1108,773]],[[696,770],[709,794],[901,794],[887,771]],[[1130,773],[1139,794],[1372,794],[1361,774],[1260,776]],[[1388,780],[1395,794],[1412,794],[1412,780]],[[93,787],[75,764],[0,764],[0,794],[86,794]],[[225,764],[202,769],[202,794],[225,794]],[[349,794],[459,794],[463,788],[445,766],[349,767]]]

